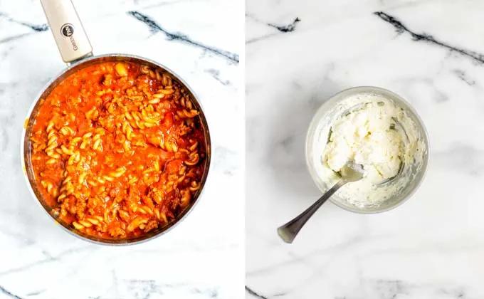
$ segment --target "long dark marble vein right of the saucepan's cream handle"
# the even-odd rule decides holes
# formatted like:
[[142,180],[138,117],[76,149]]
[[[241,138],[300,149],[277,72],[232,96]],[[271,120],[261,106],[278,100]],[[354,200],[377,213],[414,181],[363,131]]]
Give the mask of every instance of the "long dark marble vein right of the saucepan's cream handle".
[[200,43],[199,41],[193,41],[191,38],[189,38],[189,36],[186,36],[183,33],[169,32],[166,29],[164,29],[162,26],[160,26],[159,23],[154,21],[154,19],[152,19],[151,17],[145,14],[140,13],[139,11],[128,11],[127,14],[135,17],[138,21],[145,23],[149,27],[149,31],[151,31],[152,33],[158,33],[158,32],[164,33],[164,35],[167,36],[169,41],[180,41],[181,43],[186,43],[190,46],[201,48],[204,51],[208,51],[210,53],[215,54],[216,56],[221,56],[223,58],[226,58],[228,59],[228,61],[231,61],[233,63],[239,62],[238,54],[231,53],[229,51],[224,51],[212,46],[206,46],[204,43]]

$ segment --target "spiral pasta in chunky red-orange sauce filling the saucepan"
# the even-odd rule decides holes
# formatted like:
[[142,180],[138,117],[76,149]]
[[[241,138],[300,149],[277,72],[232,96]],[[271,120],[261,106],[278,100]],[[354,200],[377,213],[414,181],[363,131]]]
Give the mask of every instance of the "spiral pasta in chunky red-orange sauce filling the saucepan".
[[31,164],[55,214],[101,238],[142,236],[177,219],[199,192],[204,129],[172,78],[98,63],[63,80],[33,123]]

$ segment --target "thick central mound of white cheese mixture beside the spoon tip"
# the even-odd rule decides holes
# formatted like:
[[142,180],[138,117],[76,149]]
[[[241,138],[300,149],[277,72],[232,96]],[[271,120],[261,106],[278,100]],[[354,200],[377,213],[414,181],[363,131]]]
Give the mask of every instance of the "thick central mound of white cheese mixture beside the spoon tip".
[[333,171],[339,172],[354,160],[364,166],[366,180],[372,184],[396,176],[404,156],[405,135],[397,131],[392,118],[398,109],[381,103],[363,104],[333,123],[324,153]]

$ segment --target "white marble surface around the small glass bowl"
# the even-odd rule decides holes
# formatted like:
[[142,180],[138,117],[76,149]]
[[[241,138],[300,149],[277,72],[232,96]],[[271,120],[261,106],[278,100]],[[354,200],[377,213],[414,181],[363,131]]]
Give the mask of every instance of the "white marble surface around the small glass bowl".
[[[246,14],[246,297],[484,298],[484,2],[248,0]],[[286,245],[275,229],[320,196],[310,119],[356,85],[414,105],[426,179],[384,214],[326,204]]]

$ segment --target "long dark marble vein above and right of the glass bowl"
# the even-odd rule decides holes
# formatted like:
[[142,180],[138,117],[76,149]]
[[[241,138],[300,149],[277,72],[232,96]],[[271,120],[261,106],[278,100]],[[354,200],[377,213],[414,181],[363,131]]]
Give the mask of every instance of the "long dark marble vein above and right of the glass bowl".
[[475,62],[484,63],[483,54],[463,48],[458,48],[456,46],[451,46],[448,43],[444,43],[443,41],[438,41],[438,39],[434,38],[428,33],[415,33],[414,31],[411,31],[409,28],[407,28],[404,23],[401,23],[399,19],[396,19],[394,16],[390,16],[383,11],[376,11],[373,14],[379,16],[379,18],[383,21],[386,21],[386,23],[390,23],[392,26],[394,26],[397,33],[409,33],[411,37],[414,38],[414,41],[424,41],[426,43],[431,43],[433,45],[440,46],[450,51],[459,53],[463,56],[469,57]]

